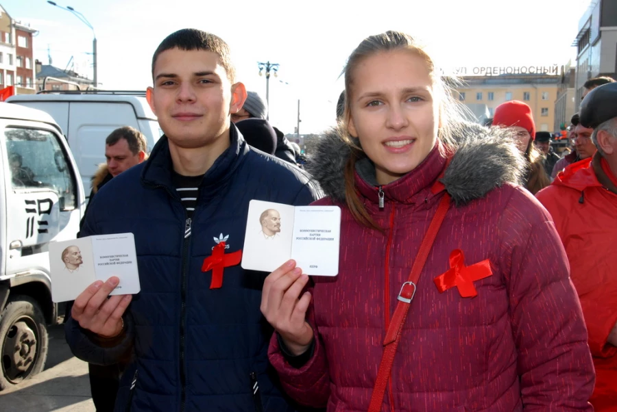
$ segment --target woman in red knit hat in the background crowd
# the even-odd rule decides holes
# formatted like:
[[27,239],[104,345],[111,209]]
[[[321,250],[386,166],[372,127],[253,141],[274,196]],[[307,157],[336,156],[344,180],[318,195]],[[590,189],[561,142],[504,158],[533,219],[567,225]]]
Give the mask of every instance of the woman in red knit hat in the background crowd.
[[525,188],[532,194],[536,194],[550,185],[551,178],[544,170],[544,157],[533,146],[535,124],[531,107],[518,100],[502,103],[495,109],[493,126],[512,127],[516,131],[516,146],[527,159],[527,172],[524,176]]

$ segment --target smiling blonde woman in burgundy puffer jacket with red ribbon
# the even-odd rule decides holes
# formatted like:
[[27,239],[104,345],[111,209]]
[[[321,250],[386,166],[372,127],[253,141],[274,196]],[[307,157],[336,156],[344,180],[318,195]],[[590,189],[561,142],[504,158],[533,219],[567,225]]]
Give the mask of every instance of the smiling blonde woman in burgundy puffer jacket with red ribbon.
[[512,131],[462,123],[396,31],[361,42],[345,81],[311,168],[315,204],[342,210],[339,274],[309,284],[292,260],[263,287],[287,394],[328,412],[592,411],[581,306],[551,217],[516,184]]

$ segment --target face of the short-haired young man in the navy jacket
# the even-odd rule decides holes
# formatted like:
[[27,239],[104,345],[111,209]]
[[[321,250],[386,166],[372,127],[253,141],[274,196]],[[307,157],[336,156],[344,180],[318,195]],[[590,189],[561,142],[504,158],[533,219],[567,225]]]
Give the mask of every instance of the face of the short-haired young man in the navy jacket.
[[[158,55],[148,102],[170,144],[184,149],[225,146],[230,114],[246,99],[242,83],[231,84],[219,55],[170,49]],[[223,137],[224,136],[224,137]]]

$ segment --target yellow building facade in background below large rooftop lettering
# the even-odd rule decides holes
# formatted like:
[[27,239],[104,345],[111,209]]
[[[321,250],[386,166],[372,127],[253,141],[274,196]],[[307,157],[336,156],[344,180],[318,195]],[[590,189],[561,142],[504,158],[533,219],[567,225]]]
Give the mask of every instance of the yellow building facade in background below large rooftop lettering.
[[463,84],[455,87],[455,97],[465,105],[486,105],[490,117],[501,103],[519,100],[531,107],[537,131],[559,131],[555,130],[555,102],[561,77],[554,75],[553,70],[542,74],[520,72],[463,76]]

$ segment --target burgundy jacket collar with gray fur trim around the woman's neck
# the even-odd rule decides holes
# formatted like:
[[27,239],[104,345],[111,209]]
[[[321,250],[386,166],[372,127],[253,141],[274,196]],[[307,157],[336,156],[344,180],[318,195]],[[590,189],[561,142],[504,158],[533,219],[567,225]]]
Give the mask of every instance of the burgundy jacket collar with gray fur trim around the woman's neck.
[[[435,146],[415,170],[384,187],[385,195],[404,203],[414,203],[419,193],[426,193],[439,181],[457,205],[482,198],[503,183],[519,183],[526,168],[525,159],[513,144],[515,136],[507,128],[488,129],[472,123],[460,123],[452,138],[449,161]],[[332,129],[311,153],[305,168],[319,182],[326,195],[345,203],[344,170],[351,155],[341,139],[341,130]],[[443,177],[441,177],[443,172]],[[369,159],[356,162],[356,188],[363,196],[375,199],[378,191],[374,166]],[[422,196],[424,201],[424,196]]]

